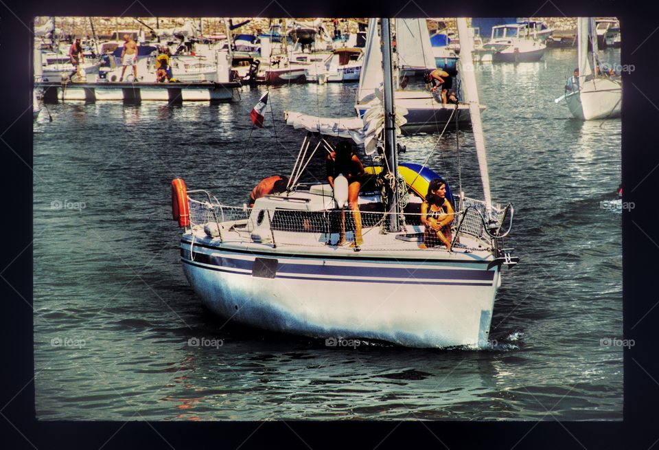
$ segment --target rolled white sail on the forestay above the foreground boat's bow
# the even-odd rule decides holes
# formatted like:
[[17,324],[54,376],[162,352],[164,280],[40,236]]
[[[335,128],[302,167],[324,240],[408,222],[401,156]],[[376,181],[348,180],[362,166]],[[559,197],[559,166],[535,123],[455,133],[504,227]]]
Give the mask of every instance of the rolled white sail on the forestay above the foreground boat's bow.
[[459,73],[462,77],[462,89],[465,96],[464,100],[469,104],[472,130],[474,131],[474,141],[476,142],[478,166],[481,168],[483,196],[489,214],[490,207],[492,206],[492,194],[489,190],[489,171],[487,169],[487,155],[485,154],[485,139],[483,138],[483,122],[481,122],[481,109],[478,104],[478,89],[476,87],[476,72],[474,71],[474,63],[472,59],[474,41],[473,36],[469,34],[469,29],[467,28],[467,19],[464,17],[458,18],[457,23],[458,36],[460,38]]

